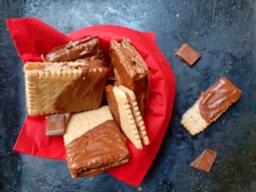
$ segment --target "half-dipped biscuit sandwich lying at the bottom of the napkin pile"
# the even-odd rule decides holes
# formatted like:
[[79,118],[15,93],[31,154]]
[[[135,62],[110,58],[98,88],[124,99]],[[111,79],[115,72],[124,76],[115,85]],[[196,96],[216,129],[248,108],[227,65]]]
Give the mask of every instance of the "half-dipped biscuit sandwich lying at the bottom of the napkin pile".
[[129,161],[126,140],[108,106],[72,114],[64,135],[72,177],[87,177]]

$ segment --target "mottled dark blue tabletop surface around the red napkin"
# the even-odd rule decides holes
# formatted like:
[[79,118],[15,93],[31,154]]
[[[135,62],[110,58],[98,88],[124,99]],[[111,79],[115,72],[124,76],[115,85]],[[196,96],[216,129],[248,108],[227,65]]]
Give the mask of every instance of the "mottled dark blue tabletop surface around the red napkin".
[[[0,1],[0,191],[255,192],[255,7],[255,0]],[[176,100],[161,149],[139,188],[108,173],[71,179],[64,161],[12,151],[26,116],[22,62],[5,24],[14,17],[38,17],[63,33],[94,24],[156,33],[176,76]],[[192,68],[174,57],[183,42],[202,54]],[[241,100],[191,137],[180,118],[221,76],[242,90]],[[217,152],[209,174],[189,166],[204,148]]]

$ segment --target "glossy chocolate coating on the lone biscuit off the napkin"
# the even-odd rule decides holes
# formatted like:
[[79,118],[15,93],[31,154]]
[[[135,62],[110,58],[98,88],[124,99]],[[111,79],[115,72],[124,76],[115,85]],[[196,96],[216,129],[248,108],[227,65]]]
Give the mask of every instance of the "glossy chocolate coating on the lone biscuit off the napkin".
[[241,90],[227,78],[222,77],[201,94],[199,111],[202,118],[210,123],[217,120],[230,105],[237,102],[240,96]]

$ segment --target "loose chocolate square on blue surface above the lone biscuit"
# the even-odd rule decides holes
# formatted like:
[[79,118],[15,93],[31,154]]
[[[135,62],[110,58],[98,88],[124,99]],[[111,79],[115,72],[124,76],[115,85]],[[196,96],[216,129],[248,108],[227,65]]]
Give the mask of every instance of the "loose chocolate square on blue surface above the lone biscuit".
[[175,56],[184,63],[187,63],[189,66],[193,66],[201,57],[200,53],[186,43],[182,44],[182,46],[175,53]]

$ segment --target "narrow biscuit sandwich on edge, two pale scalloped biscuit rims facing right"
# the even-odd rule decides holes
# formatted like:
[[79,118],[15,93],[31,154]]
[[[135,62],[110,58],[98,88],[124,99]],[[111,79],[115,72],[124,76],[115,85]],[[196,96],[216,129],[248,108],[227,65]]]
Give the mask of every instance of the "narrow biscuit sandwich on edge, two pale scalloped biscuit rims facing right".
[[142,144],[148,145],[150,142],[134,92],[122,85],[108,85],[106,95],[117,124],[135,148],[142,149]]

